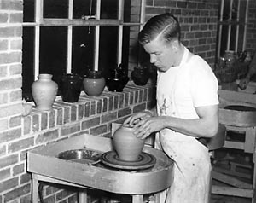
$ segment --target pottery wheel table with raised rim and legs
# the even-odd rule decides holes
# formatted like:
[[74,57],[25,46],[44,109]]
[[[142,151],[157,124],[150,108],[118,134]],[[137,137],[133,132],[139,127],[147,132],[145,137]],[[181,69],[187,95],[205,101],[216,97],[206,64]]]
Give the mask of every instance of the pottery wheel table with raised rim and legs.
[[[90,165],[86,161],[60,159],[59,154],[75,149],[90,149],[102,154],[113,151],[110,138],[87,134],[32,149],[28,152],[27,170],[32,172],[33,203],[38,203],[38,181],[130,194],[133,203],[143,202],[143,194],[157,194],[172,183],[172,159],[160,150],[143,148],[143,153],[155,158],[152,167],[123,171],[103,163]],[[79,203],[86,200],[86,193],[79,193]]]

